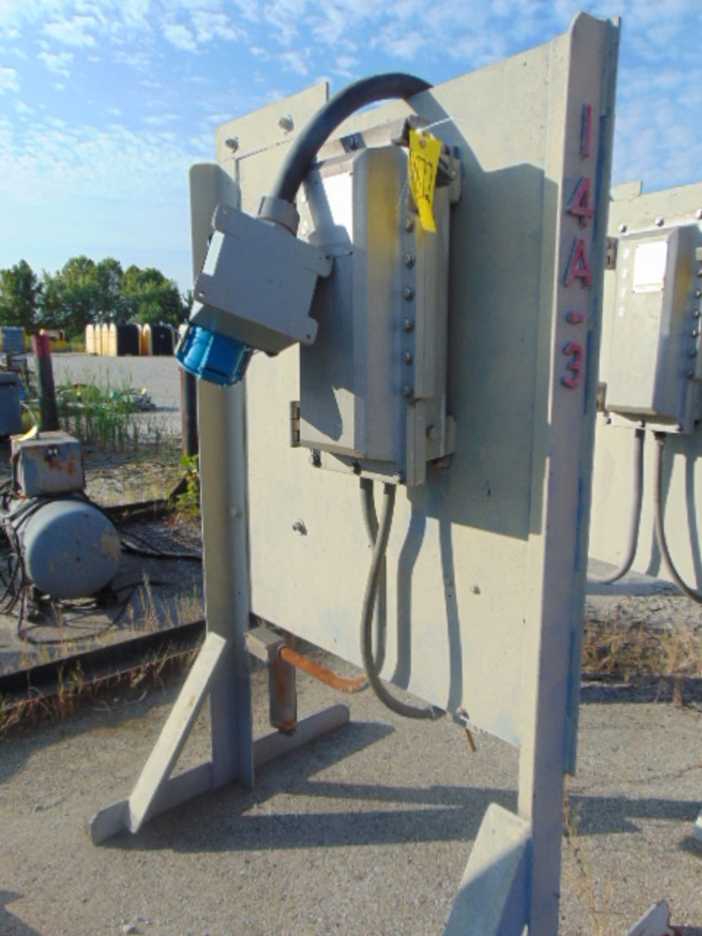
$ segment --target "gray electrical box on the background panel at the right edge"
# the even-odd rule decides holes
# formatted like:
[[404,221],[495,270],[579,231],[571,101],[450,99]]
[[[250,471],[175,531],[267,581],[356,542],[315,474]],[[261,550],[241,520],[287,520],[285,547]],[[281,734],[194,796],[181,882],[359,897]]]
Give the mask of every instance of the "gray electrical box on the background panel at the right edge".
[[693,431],[702,415],[697,225],[620,237],[607,409]]

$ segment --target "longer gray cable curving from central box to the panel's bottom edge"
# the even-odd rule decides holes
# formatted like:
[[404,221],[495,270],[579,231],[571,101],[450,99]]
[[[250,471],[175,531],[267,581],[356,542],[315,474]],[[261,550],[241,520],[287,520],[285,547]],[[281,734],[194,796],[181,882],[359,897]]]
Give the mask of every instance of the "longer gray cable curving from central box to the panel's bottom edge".
[[430,719],[434,721],[440,718],[444,712],[441,709],[434,709],[432,706],[418,709],[415,706],[406,705],[404,702],[396,699],[394,695],[390,695],[380,681],[375,661],[373,660],[373,610],[375,607],[375,598],[378,593],[383,562],[385,560],[386,550],[388,549],[388,539],[390,536],[394,509],[395,485],[384,484],[383,510],[380,515],[378,533],[373,546],[371,567],[368,570],[368,579],[366,581],[366,591],[363,595],[363,608],[360,619],[360,655],[373,692],[383,705],[387,706],[388,709],[391,709],[397,715],[402,715],[404,718]]

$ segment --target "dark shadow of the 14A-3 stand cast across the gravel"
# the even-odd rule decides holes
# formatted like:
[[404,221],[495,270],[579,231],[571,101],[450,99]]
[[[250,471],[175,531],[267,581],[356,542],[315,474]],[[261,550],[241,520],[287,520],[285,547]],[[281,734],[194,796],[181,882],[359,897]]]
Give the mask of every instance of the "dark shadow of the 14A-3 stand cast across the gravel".
[[[229,785],[155,817],[137,837],[121,834],[103,847],[189,854],[472,841],[490,803],[516,810],[513,790],[314,779],[391,731],[387,724],[351,723],[263,770],[255,790]],[[324,801],[320,811],[314,810],[315,799]],[[700,805],[696,799],[578,795],[570,803],[578,835],[635,832],[636,819],[692,827]]]

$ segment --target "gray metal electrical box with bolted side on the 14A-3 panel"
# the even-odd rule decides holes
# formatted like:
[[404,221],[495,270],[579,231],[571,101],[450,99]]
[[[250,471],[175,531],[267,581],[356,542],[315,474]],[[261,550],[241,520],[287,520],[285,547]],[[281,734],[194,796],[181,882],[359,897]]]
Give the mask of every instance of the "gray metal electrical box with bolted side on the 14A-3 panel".
[[316,341],[300,345],[300,445],[319,466],[413,486],[427,461],[453,450],[446,318],[457,197],[456,185],[436,187],[436,230],[425,230],[397,145],[329,158],[307,175],[300,234],[334,257],[314,293]]

